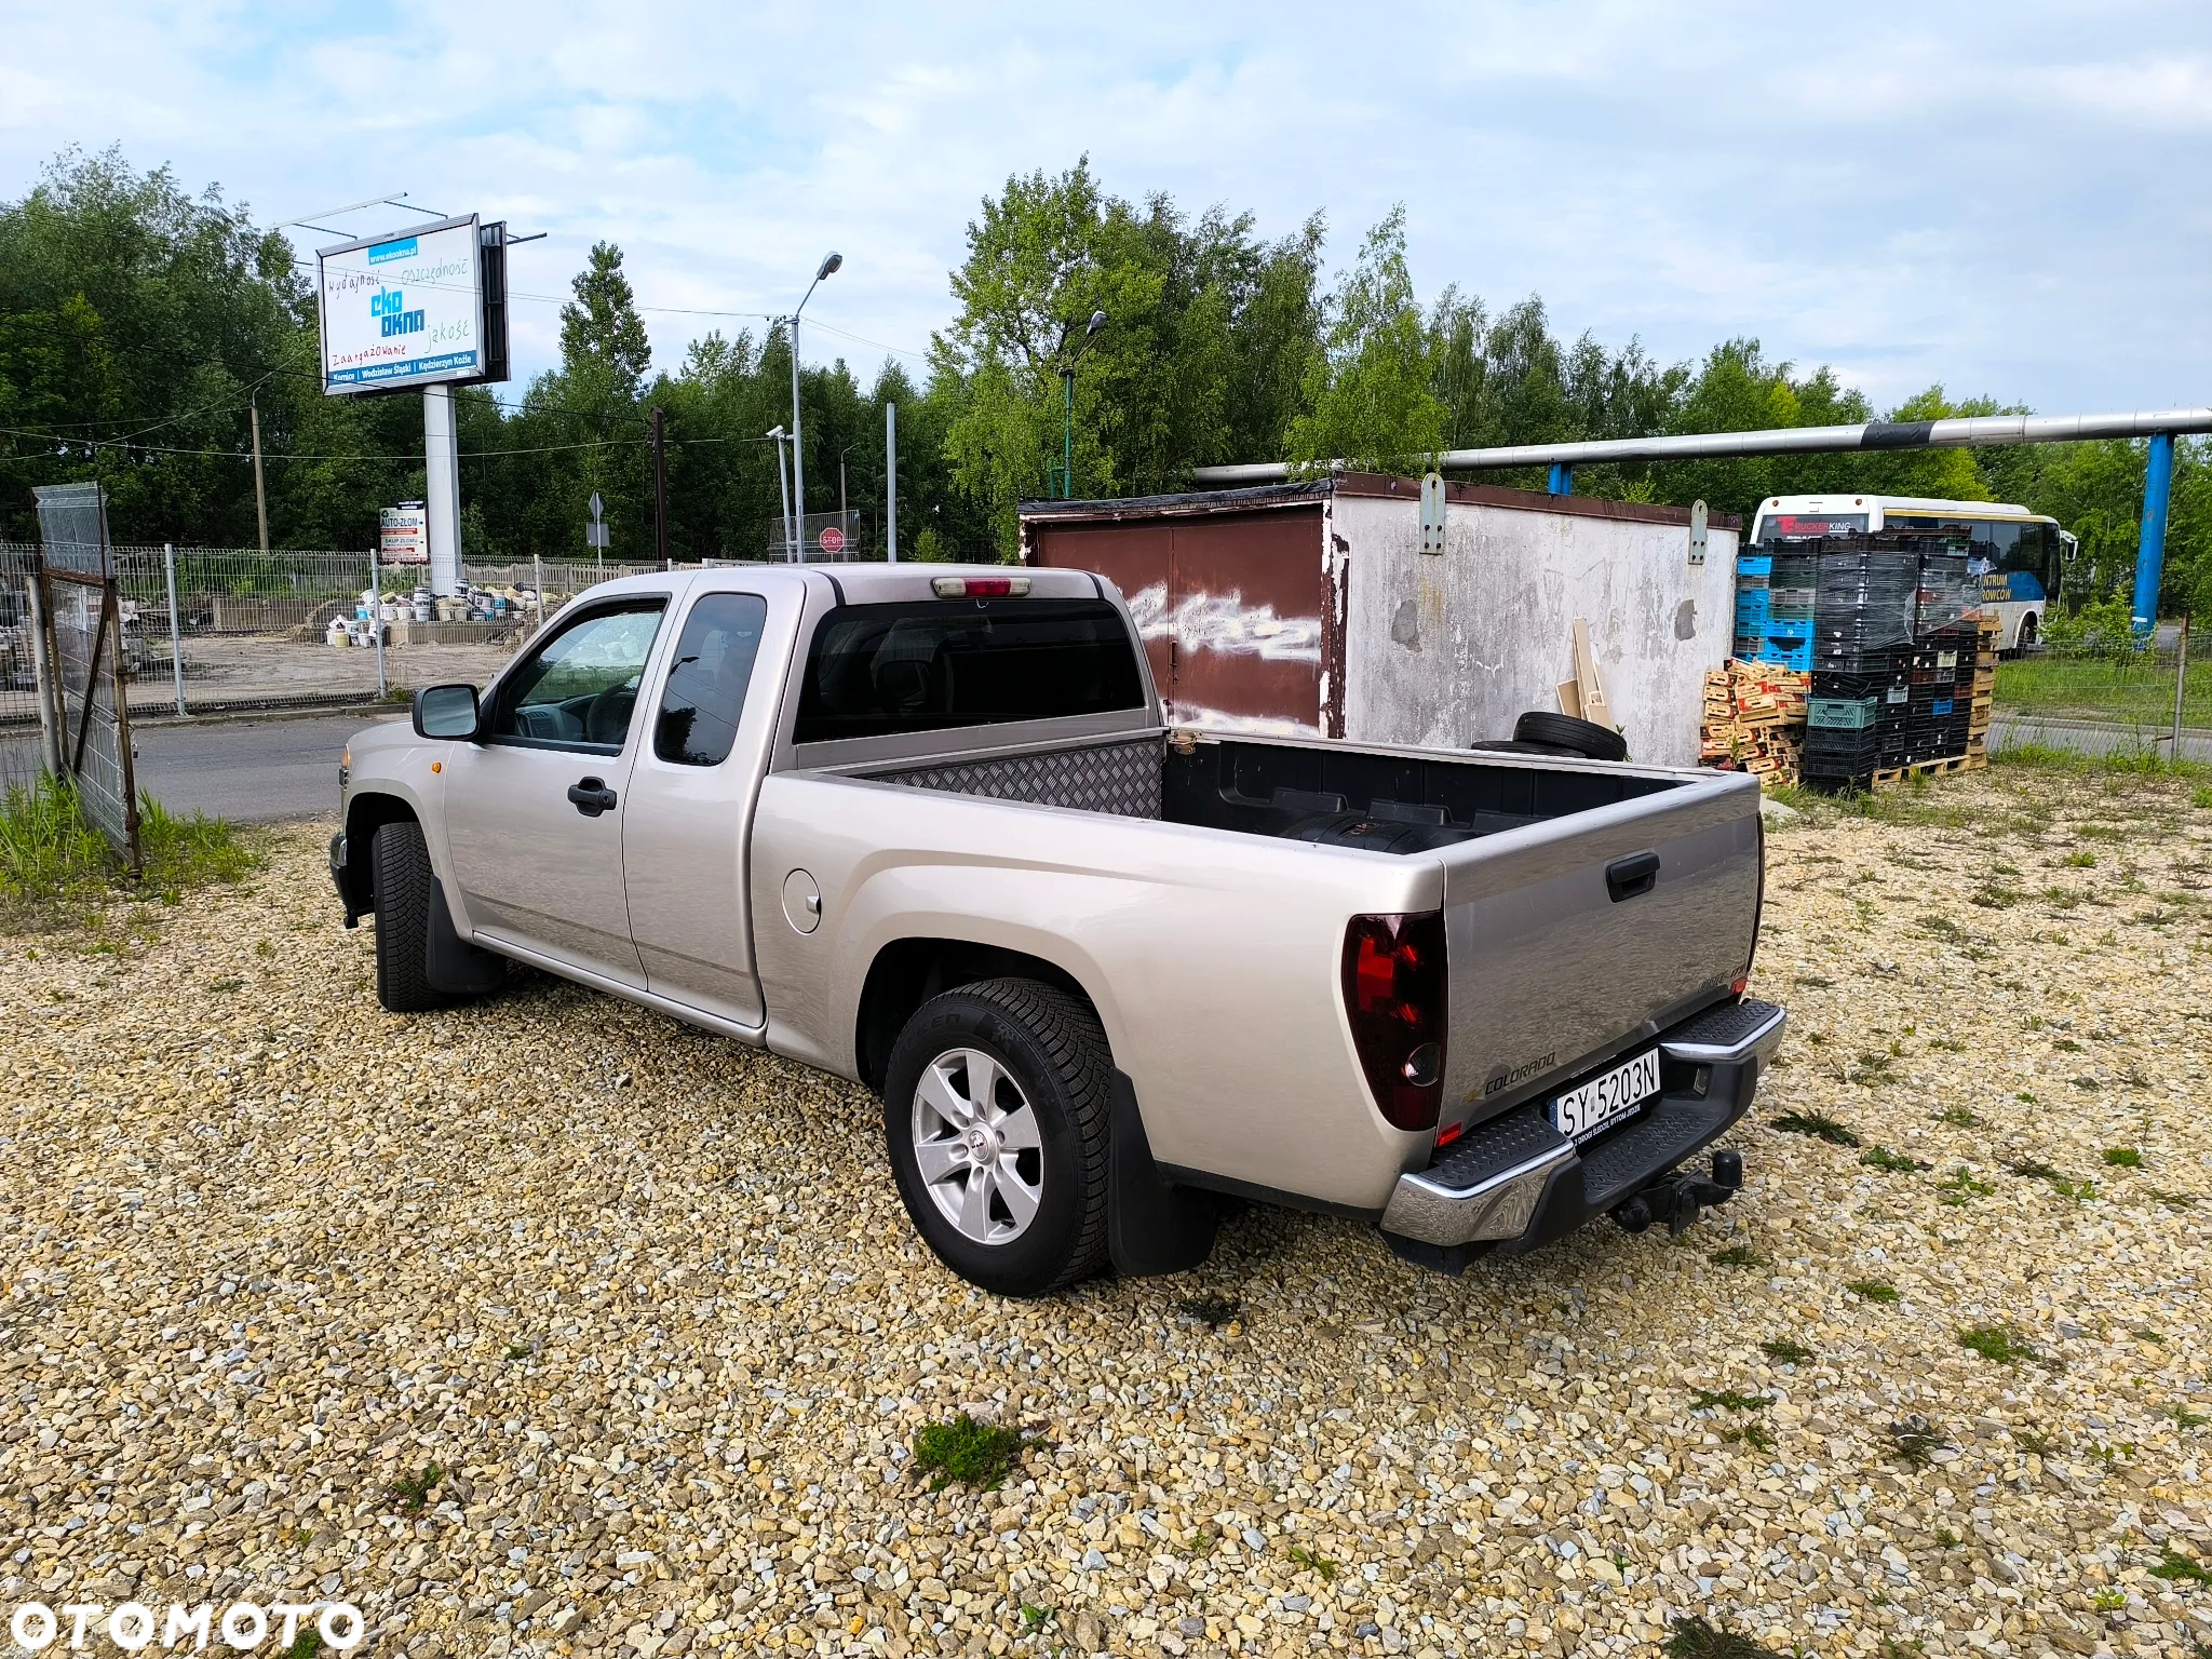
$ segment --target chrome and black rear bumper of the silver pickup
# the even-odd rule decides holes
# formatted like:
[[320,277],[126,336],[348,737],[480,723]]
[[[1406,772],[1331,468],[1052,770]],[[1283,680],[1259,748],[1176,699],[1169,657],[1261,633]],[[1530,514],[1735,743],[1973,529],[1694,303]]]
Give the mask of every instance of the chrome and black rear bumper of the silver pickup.
[[1582,1146],[1531,1102],[1453,1144],[1427,1170],[1400,1175],[1383,1212],[1391,1248],[1458,1272],[1484,1250],[1551,1243],[1666,1175],[1743,1117],[1759,1071],[1783,1040],[1772,1002],[1723,1002],[1659,1033],[1661,1095]]

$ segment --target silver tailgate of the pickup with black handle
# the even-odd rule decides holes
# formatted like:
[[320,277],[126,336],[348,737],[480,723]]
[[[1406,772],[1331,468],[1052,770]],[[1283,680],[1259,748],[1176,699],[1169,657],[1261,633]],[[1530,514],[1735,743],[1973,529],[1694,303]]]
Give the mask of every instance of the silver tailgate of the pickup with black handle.
[[1442,860],[1447,1124],[1486,1119],[1635,1048],[1750,971],[1752,779],[1714,774],[1484,836]]

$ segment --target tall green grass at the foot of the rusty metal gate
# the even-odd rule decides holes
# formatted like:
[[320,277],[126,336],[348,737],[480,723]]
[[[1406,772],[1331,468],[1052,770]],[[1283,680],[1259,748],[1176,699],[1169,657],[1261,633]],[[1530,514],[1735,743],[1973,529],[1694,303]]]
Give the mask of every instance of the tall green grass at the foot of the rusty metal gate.
[[221,818],[179,818],[139,796],[137,880],[77,805],[66,783],[40,779],[0,799],[0,931],[73,931],[100,925],[113,898],[175,905],[192,887],[230,883],[261,863]]

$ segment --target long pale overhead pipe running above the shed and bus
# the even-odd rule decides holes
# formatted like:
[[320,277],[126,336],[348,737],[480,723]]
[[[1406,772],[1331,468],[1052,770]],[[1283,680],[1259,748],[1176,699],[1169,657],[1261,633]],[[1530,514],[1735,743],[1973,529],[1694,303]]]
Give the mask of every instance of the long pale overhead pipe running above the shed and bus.
[[[1500,445],[1447,449],[1438,471],[1489,467],[1564,467],[1604,460],[1714,460],[1728,456],[1836,456],[1878,449],[1980,449],[1995,445],[2062,445],[2097,438],[2152,438],[2212,431],[2212,409],[2135,409],[2093,416],[1960,416],[1953,420],[1867,420],[1858,427],[1778,427],[1770,431],[1699,431],[1670,438],[1595,438],[1557,445]],[[1318,462],[1345,471],[1345,462]],[[1287,460],[1197,467],[1192,480],[1210,489],[1281,484]]]

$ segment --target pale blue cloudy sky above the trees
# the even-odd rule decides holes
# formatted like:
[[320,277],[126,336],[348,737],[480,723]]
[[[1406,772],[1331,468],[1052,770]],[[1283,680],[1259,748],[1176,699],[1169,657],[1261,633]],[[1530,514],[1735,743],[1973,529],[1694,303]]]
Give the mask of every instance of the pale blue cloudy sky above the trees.
[[[1407,206],[1418,292],[1540,294],[1661,361],[1756,336],[1876,407],[2212,403],[2212,4],[188,7],[0,0],[0,197],[119,144],[259,221],[374,234],[405,192],[504,217],[522,374],[622,246],[677,367],[787,312],[920,372],[1013,173],[1307,215],[1347,261]],[[307,250],[332,241],[294,230]],[[818,325],[818,327],[816,327]]]

